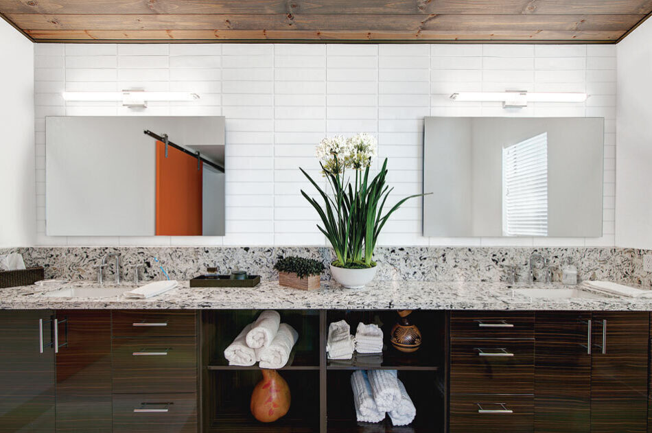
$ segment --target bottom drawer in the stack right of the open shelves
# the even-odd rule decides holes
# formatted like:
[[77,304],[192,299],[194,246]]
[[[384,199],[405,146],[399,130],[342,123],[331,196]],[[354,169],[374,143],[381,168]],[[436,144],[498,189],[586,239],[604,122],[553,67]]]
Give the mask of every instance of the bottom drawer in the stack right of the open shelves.
[[455,395],[450,401],[450,433],[532,433],[533,397]]

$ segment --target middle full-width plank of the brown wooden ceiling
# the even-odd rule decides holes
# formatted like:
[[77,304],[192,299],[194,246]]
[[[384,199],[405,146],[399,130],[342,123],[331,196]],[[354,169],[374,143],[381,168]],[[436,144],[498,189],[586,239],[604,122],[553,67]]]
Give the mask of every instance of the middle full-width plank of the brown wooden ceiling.
[[9,14],[28,30],[620,30],[644,15],[44,15]]

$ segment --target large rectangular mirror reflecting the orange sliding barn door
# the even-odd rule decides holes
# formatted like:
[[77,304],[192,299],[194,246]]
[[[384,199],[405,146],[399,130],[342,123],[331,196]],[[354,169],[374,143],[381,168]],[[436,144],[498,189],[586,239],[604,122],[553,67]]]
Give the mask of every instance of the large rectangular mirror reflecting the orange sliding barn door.
[[224,117],[47,117],[49,236],[223,236]]

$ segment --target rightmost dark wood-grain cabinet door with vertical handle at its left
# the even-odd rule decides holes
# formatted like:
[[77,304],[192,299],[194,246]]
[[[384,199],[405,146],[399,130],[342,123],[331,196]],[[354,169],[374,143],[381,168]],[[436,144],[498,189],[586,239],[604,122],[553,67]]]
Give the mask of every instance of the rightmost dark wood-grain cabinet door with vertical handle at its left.
[[591,432],[647,432],[649,313],[594,312]]

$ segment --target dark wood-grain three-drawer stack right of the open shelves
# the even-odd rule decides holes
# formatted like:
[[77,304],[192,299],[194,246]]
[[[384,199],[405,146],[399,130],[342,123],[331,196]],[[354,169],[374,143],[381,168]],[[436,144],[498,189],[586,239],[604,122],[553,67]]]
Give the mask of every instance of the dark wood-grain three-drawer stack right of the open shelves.
[[533,312],[452,312],[452,433],[532,433]]

